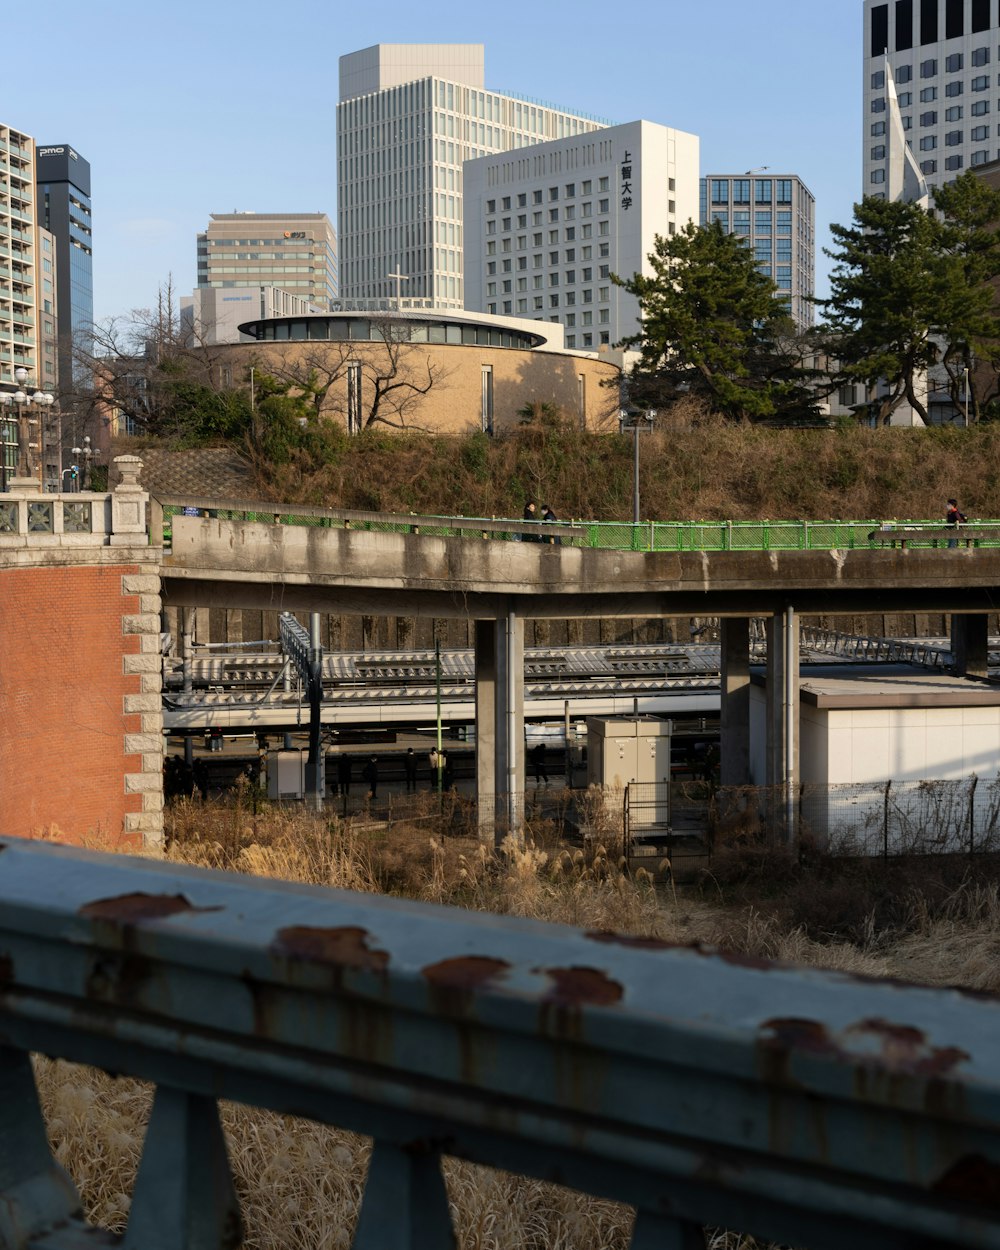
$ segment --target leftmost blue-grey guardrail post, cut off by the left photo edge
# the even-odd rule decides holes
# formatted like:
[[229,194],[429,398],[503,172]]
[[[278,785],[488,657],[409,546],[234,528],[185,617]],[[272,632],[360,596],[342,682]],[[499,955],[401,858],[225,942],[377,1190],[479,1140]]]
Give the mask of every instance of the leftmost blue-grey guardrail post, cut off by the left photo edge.
[[31,1060],[8,1046],[0,1046],[0,1246],[25,1246],[80,1219],[80,1198],[49,1150]]

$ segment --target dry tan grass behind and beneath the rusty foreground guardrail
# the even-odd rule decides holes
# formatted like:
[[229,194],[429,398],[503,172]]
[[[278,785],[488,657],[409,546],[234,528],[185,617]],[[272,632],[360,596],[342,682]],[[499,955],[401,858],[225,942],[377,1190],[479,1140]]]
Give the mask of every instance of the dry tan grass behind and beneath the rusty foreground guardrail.
[[[469,838],[429,835],[425,825],[361,829],[304,814],[251,816],[239,804],[175,804],[168,812],[169,855],[178,862],[225,868],[355,890],[408,894],[509,915],[535,916],[666,940],[709,941],[732,950],[865,975],[1000,990],[1000,888],[962,875],[934,886],[910,881],[896,922],[861,924],[858,940],[799,922],[765,888],[730,901],[726,881],[664,905],[646,874],[629,876],[614,849],[584,854],[561,846],[550,826],[535,840],[508,839],[492,854]],[[790,865],[772,864],[788,886]],[[750,874],[754,875],[752,872]],[[922,889],[919,886],[922,884]],[[784,892],[784,886],[782,891]],[[832,880],[812,880],[822,914]],[[856,889],[856,881],[851,882]],[[899,881],[894,882],[899,889]],[[874,896],[874,895],[872,895]],[[36,1060],[54,1149],[80,1186],[90,1219],[121,1230],[149,1115],[150,1091],[131,1080],[60,1061]],[[369,1142],[338,1129],[255,1108],[221,1109],[234,1176],[255,1250],[346,1248],[364,1190]],[[616,1204],[554,1185],[448,1160],[445,1176],[462,1250],[625,1250],[632,1214]],[[712,1250],[755,1250],[760,1242],[716,1231]]]

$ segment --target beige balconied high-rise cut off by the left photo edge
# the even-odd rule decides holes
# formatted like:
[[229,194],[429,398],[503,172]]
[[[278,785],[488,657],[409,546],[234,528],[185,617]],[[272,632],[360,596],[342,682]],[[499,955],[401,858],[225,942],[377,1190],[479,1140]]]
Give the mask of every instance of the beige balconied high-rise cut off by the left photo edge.
[[[35,144],[0,122],[0,404],[38,386]],[[15,370],[24,369],[24,384]],[[0,406],[0,480],[18,471],[18,414]]]

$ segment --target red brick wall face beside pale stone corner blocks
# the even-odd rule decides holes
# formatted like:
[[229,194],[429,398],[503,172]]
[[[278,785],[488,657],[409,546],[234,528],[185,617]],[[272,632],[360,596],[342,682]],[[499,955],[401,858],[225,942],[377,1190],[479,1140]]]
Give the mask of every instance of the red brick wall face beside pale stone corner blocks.
[[52,836],[101,846],[141,845],[125,835],[142,796],[125,792],[141,756],[125,755],[125,675],[135,634],[122,616],[139,596],[122,594],[134,565],[0,571],[0,836]]

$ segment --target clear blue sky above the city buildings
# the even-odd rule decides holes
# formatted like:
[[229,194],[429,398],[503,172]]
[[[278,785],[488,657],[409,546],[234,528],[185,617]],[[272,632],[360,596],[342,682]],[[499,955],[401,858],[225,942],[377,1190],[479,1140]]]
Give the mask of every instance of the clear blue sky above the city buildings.
[[[702,172],[759,165],[816,196],[819,245],[859,195],[861,0],[170,0],[25,9],[0,119],[91,164],[98,320],[195,285],[210,212],[336,224],[338,58],[481,42],[486,85],[700,136]],[[31,26],[35,26],[32,30]]]

